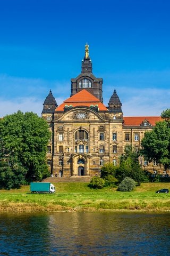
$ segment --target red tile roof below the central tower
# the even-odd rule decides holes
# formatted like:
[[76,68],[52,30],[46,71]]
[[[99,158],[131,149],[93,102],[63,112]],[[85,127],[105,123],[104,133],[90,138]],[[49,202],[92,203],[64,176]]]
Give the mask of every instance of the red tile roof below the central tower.
[[72,105],[73,107],[90,107],[90,105],[98,105],[99,110],[108,111],[105,105],[98,98],[85,89],[64,100],[64,102],[56,108],[56,111],[64,111],[65,105]]

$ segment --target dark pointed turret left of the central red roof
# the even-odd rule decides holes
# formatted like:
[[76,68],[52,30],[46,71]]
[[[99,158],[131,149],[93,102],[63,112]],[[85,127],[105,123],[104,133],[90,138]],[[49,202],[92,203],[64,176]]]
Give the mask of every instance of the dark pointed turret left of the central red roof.
[[45,101],[44,101],[44,108],[42,111],[42,114],[45,113],[49,113],[49,114],[53,114],[57,105],[57,102],[52,94],[52,90],[49,91],[48,96],[46,97]]

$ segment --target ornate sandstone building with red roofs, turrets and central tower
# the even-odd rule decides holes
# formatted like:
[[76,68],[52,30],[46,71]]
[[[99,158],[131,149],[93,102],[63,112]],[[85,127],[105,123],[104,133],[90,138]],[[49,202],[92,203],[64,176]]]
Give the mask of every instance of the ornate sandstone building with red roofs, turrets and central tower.
[[[103,79],[92,74],[89,46],[81,64],[81,74],[71,79],[71,97],[57,106],[52,91],[44,101],[42,117],[52,131],[47,147],[47,164],[59,177],[98,175],[104,163],[118,164],[125,145],[140,149],[141,139],[160,117],[124,117],[122,103],[114,90],[103,104]],[[141,166],[159,172],[157,163]]]

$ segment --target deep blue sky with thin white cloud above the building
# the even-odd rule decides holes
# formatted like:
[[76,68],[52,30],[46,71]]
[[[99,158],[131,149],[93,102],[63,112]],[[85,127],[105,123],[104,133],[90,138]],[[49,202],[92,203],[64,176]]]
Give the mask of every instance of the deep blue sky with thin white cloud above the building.
[[59,105],[90,45],[107,106],[114,89],[124,116],[169,108],[170,1],[0,0],[0,116],[41,114],[51,89]]

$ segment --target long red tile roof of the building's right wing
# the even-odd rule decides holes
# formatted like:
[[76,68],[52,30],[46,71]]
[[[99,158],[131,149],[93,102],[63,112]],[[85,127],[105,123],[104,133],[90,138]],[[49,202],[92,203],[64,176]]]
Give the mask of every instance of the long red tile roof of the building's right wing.
[[162,121],[160,116],[124,116],[124,126],[140,126],[140,124],[147,120],[151,125],[155,125],[156,122]]

